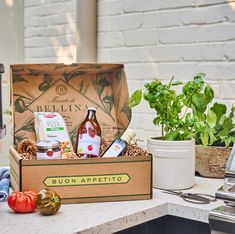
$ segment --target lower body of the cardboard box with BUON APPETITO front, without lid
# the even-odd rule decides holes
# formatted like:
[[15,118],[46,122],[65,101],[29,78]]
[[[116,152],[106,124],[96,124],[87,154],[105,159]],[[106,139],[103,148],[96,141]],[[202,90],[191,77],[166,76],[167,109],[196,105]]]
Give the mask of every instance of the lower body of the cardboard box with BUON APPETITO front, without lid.
[[47,187],[63,203],[150,199],[151,157],[22,160],[10,148],[11,183],[14,190]]

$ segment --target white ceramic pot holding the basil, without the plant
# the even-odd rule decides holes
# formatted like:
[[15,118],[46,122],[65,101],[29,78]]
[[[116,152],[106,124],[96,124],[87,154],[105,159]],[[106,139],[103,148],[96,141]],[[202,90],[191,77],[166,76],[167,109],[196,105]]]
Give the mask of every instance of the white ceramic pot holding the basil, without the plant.
[[148,139],[153,155],[153,187],[181,190],[191,188],[195,175],[195,140]]

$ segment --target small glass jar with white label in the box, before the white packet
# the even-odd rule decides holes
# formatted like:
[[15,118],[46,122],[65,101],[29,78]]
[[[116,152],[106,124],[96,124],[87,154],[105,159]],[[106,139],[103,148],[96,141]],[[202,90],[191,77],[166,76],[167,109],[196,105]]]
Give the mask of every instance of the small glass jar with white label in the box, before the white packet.
[[59,141],[37,141],[35,144],[37,159],[60,159],[60,142]]

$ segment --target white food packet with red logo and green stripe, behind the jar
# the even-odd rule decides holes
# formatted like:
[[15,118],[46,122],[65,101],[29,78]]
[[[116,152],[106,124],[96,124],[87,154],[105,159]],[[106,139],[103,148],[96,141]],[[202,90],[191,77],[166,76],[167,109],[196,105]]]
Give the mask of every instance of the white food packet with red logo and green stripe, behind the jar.
[[35,132],[38,140],[69,141],[63,117],[57,112],[34,112]]

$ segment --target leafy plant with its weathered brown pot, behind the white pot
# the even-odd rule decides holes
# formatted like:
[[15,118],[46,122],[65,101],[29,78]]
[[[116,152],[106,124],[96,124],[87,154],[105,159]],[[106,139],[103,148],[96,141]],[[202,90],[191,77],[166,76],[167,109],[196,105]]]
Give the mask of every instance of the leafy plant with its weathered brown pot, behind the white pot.
[[225,166],[235,142],[233,105],[215,103],[194,125],[196,135],[196,172],[201,176],[223,178]]

